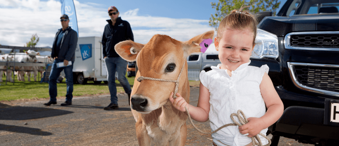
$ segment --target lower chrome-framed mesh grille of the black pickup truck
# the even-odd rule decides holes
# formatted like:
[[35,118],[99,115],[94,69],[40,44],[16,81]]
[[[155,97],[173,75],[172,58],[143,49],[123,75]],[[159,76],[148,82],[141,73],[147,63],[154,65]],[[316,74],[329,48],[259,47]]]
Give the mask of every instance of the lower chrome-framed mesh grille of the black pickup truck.
[[297,87],[339,96],[339,65],[288,62],[288,67]]

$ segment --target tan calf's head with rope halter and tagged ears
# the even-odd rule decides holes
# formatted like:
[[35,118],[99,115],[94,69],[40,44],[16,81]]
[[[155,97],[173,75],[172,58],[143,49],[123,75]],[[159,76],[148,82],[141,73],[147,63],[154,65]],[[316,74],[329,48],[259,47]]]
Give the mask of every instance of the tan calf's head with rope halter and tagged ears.
[[[184,67],[179,79],[178,92],[181,93],[185,82],[189,88],[186,58],[192,53],[200,52],[200,46],[192,42],[199,44],[204,39],[212,39],[213,35],[214,31],[211,30],[186,42],[166,35],[154,35],[146,44],[120,42],[115,45],[115,50],[123,59],[129,62],[137,61],[140,76],[143,77],[177,80],[181,68]],[[173,82],[142,80],[131,97],[131,107],[138,112],[149,113],[169,102],[168,97],[174,92],[174,88]]]

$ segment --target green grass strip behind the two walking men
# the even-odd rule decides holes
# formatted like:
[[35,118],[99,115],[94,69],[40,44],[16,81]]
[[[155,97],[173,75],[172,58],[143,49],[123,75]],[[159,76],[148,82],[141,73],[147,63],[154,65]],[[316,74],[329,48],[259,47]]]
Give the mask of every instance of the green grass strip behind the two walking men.
[[[12,75],[13,78],[13,75]],[[126,78],[131,85],[131,88],[134,84],[135,77]],[[32,82],[27,82],[27,77],[25,77],[26,82],[18,81],[15,77],[15,83],[7,82],[5,84],[5,77],[2,78],[4,82],[0,83],[0,101],[11,101],[19,99],[37,99],[37,98],[49,98],[48,93],[48,83],[34,82],[34,79],[31,78]],[[40,80],[39,80],[40,81]],[[120,85],[118,80],[115,81],[117,84],[117,92],[124,92],[124,89]],[[189,81],[191,86],[199,87],[200,81]],[[66,83],[65,79],[62,83],[57,83],[58,97],[64,97],[66,95]],[[93,81],[88,81],[86,85],[74,84],[73,86],[73,96],[85,96],[85,95],[100,95],[100,94],[109,94],[107,84],[101,82],[101,84],[94,84]]]

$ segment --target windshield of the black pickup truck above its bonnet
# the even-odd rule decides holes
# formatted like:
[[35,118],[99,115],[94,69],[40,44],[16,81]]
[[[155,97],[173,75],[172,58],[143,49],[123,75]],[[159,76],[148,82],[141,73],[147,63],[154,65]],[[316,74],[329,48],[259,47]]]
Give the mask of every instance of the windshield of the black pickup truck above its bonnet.
[[285,15],[339,13],[338,9],[338,0],[293,0]]

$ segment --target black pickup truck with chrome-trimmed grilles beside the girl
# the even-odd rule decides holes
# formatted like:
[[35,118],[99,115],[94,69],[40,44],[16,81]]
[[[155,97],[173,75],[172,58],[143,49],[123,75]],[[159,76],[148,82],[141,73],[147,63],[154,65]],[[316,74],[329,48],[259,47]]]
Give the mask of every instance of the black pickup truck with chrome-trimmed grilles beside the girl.
[[284,103],[269,128],[279,137],[339,146],[339,0],[287,0],[258,24],[250,65],[268,75]]

